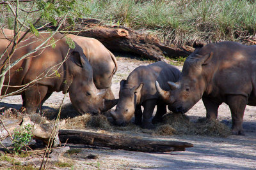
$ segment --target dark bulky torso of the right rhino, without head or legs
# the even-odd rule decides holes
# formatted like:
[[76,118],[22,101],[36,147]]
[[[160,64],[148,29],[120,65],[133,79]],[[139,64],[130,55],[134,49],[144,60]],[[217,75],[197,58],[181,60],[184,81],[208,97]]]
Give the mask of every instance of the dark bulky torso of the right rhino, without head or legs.
[[207,45],[197,53],[211,52],[211,62],[202,67],[207,83],[205,94],[222,101],[227,94],[241,94],[256,100],[256,46],[225,41]]

